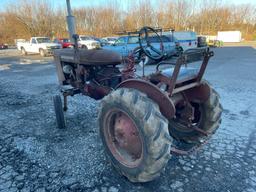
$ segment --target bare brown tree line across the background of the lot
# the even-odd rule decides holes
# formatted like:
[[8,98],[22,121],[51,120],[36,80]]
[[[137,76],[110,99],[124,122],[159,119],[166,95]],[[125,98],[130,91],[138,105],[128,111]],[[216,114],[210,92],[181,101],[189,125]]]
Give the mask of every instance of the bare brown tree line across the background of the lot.
[[[223,0],[104,2],[73,8],[78,34],[113,36],[117,31],[146,25],[176,31],[193,30],[203,35],[240,30],[244,39],[256,40],[255,4],[233,5]],[[66,15],[65,6],[56,6],[50,0],[20,0],[17,4],[8,4],[0,12],[0,43],[14,43],[14,39],[31,36],[68,37]]]

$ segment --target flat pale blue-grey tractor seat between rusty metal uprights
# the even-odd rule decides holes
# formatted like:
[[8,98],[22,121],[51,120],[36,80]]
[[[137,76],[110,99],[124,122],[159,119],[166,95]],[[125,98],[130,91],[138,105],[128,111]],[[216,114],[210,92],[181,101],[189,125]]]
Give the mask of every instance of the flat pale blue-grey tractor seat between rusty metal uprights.
[[[174,71],[174,68],[164,69],[162,71],[162,74],[164,76],[167,76],[167,77],[171,78],[172,74],[173,74],[173,71]],[[185,79],[187,77],[195,76],[197,74],[198,74],[198,69],[196,69],[196,68],[181,67],[177,80]]]

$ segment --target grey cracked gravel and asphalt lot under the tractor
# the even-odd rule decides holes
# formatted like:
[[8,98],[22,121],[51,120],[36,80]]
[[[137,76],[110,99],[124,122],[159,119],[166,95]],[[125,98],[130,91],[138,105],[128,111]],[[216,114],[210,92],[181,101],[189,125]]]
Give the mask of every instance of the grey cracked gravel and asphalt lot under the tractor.
[[221,96],[220,129],[202,150],[173,156],[162,176],[145,184],[130,183],[106,160],[98,102],[69,98],[68,128],[56,128],[52,58],[0,51],[0,191],[256,191],[256,51],[214,51],[205,78]]

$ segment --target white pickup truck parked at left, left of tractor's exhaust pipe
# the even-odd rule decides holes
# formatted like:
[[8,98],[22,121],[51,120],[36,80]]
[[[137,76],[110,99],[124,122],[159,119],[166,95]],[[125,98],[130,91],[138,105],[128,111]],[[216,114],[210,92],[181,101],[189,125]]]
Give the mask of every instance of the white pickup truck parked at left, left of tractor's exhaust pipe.
[[17,48],[23,55],[39,53],[45,57],[52,55],[55,49],[61,48],[61,45],[52,43],[49,37],[31,37],[29,42],[17,42]]

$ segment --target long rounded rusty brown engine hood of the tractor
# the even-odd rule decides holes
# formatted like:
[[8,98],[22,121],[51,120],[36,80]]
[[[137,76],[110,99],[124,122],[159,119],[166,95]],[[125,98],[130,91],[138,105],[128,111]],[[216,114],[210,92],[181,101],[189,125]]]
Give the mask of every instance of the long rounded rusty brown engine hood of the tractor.
[[[56,50],[55,56],[59,56],[61,61],[75,62],[74,49]],[[82,65],[119,65],[122,62],[122,57],[116,52],[105,49],[79,49],[79,63]]]

